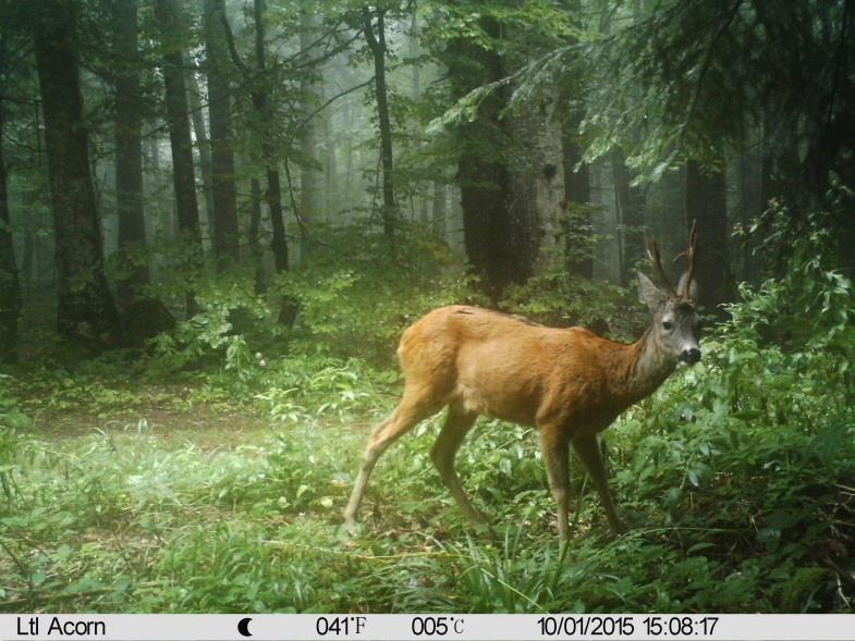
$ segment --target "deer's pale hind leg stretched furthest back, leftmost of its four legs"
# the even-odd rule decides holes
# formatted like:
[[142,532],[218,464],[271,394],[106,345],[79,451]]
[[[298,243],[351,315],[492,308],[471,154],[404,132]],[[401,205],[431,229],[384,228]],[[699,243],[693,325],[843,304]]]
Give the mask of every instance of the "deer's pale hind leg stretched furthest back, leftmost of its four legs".
[[392,443],[413,429],[416,423],[439,411],[441,407],[441,404],[427,402],[412,392],[407,393],[405,390],[403,399],[392,415],[371,433],[368,440],[368,447],[365,451],[365,457],[363,458],[363,465],[359,469],[359,476],[356,478],[347,507],[344,508],[344,525],[351,533],[356,531],[356,516],[359,511],[359,504],[363,501],[365,490],[368,486],[368,478],[371,476],[371,470],[377,465],[377,460]]

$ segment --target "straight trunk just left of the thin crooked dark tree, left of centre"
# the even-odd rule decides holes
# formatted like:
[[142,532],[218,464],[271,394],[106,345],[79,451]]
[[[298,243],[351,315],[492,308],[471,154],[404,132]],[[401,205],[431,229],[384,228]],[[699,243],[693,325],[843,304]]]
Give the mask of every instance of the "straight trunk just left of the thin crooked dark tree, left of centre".
[[208,114],[213,181],[213,252],[217,264],[236,263],[239,256],[237,193],[234,186],[232,103],[229,60],[223,33],[223,0],[205,0],[205,72],[208,76]]

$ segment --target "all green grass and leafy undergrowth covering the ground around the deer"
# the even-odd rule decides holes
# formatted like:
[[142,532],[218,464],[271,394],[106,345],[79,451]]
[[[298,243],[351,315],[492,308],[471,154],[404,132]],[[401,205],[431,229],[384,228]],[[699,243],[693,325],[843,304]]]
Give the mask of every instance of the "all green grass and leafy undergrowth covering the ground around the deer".
[[[471,532],[430,464],[439,416],[383,457],[363,533],[345,535],[365,437],[400,382],[335,341],[313,355],[243,337],[229,354],[230,338],[178,387],[118,358],[2,378],[0,608],[853,612],[855,292],[803,249],[790,276],[743,288],[701,365],[607,433],[631,526],[616,540],[574,463],[574,537],[561,547],[534,431],[484,419],[457,467],[493,527]],[[93,418],[74,439],[42,430],[71,408],[145,417],[164,405],[258,429],[219,443],[166,440],[146,421]]]

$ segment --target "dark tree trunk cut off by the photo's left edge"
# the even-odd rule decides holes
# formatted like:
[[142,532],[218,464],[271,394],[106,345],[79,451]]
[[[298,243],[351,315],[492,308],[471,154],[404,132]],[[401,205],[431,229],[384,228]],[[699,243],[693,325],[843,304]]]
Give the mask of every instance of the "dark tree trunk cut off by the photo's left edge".
[[[0,57],[3,57],[0,60],[0,69],[4,71],[5,50],[0,50]],[[0,91],[2,91],[2,87],[0,87]],[[5,162],[3,160],[3,102],[2,96],[0,96],[0,362],[16,362],[21,283],[15,264],[15,245],[9,213]]]

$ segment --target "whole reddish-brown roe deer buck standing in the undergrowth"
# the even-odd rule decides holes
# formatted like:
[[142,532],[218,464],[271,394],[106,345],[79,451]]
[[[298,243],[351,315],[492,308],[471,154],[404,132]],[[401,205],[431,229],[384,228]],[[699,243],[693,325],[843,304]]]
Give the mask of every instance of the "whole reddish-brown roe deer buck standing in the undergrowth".
[[486,414],[539,430],[562,540],[569,535],[571,444],[590,473],[609,525],[615,533],[622,532],[597,434],[630,405],[659,387],[677,361],[691,365],[700,360],[696,239],[693,225],[684,252],[688,269],[676,288],[665,276],[656,244],[648,243],[648,255],[665,291],[638,274],[640,297],[649,306],[654,323],[632,345],[600,338],[582,328],[548,328],[465,306],[436,309],[407,329],[398,349],[406,377],[404,395],[370,436],[344,510],[347,529],[356,529],[359,503],[380,455],[420,420],[448,406],[430,456],[474,526],[486,521],[461,485],[454,456],[475,419]]

